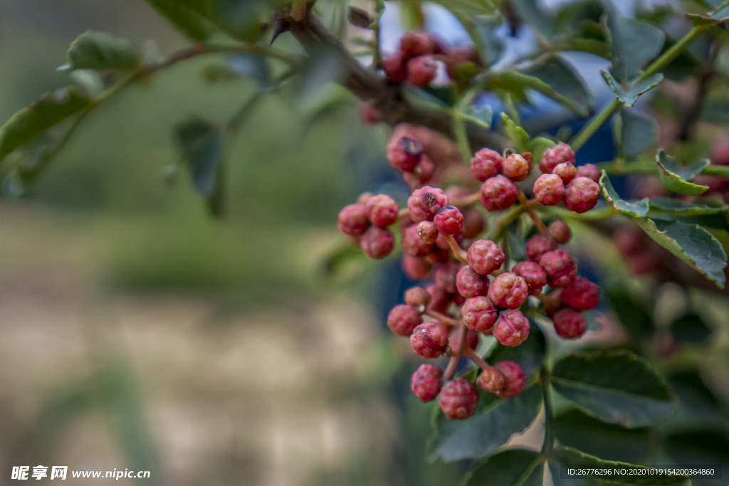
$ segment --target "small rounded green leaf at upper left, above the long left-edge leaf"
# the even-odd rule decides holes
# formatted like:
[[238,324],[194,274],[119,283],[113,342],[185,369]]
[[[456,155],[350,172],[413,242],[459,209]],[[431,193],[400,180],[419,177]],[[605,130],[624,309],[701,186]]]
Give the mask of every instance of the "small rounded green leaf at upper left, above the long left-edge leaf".
[[66,60],[74,69],[134,69],[141,53],[127,39],[86,31],[71,42]]

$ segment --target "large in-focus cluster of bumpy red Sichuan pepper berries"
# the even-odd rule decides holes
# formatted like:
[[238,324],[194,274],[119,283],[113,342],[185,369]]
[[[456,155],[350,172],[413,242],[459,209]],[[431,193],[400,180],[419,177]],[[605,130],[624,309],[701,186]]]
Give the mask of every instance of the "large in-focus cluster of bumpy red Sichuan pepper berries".
[[[395,130],[388,158],[408,181],[429,160],[417,140]],[[459,358],[470,358],[480,368],[475,384],[503,399],[518,396],[526,384],[521,367],[512,361],[489,365],[475,349],[481,334],[493,335],[504,346],[521,345],[529,336],[529,319],[522,313],[534,296],[535,305],[550,317],[555,332],[574,339],[587,330],[582,311],[599,303],[599,288],[577,276],[577,263],[569,251],[558,248],[571,238],[561,221],[549,227],[534,207],[564,202],[582,213],[599,197],[595,166],[574,165],[574,152],[566,144],[547,149],[539,163],[542,176],[529,199],[517,182],[529,177],[531,154],[507,151],[504,156],[481,149],[471,161],[471,173],[482,182],[480,192],[464,187],[447,192],[438,187],[411,184],[408,208],[401,210],[387,195],[364,194],[339,215],[339,228],[358,241],[365,254],[383,258],[394,248],[391,224],[399,223],[403,269],[414,280],[424,280],[405,293],[405,304],[396,305],[387,324],[396,334],[409,337],[413,350],[423,358],[450,356],[448,369],[423,364],[413,375],[411,389],[422,401],[438,399],[451,420],[475,413],[478,393],[463,378],[453,380]],[[425,171],[421,171],[425,172]],[[545,189],[547,188],[547,189]],[[549,197],[547,197],[549,195]],[[486,228],[483,212],[504,211],[519,202],[539,229],[526,242],[526,261],[511,262],[494,241],[480,239]],[[545,287],[548,292],[545,293]],[[444,384],[445,382],[445,384]]]

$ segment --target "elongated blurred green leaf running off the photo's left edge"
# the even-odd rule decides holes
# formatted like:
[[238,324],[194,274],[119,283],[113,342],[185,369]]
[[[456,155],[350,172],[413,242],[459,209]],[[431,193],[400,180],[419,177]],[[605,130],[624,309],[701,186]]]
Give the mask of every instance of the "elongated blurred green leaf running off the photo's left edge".
[[91,100],[75,86],[44,94],[0,127],[0,160],[64,119],[88,108],[90,103]]

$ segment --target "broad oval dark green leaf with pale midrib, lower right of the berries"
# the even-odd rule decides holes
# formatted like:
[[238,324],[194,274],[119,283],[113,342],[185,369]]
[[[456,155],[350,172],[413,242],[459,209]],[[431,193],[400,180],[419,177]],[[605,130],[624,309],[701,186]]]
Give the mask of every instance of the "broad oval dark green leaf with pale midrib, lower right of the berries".
[[562,358],[552,370],[552,385],[583,412],[625,427],[660,423],[676,409],[663,378],[648,361],[628,351]]

